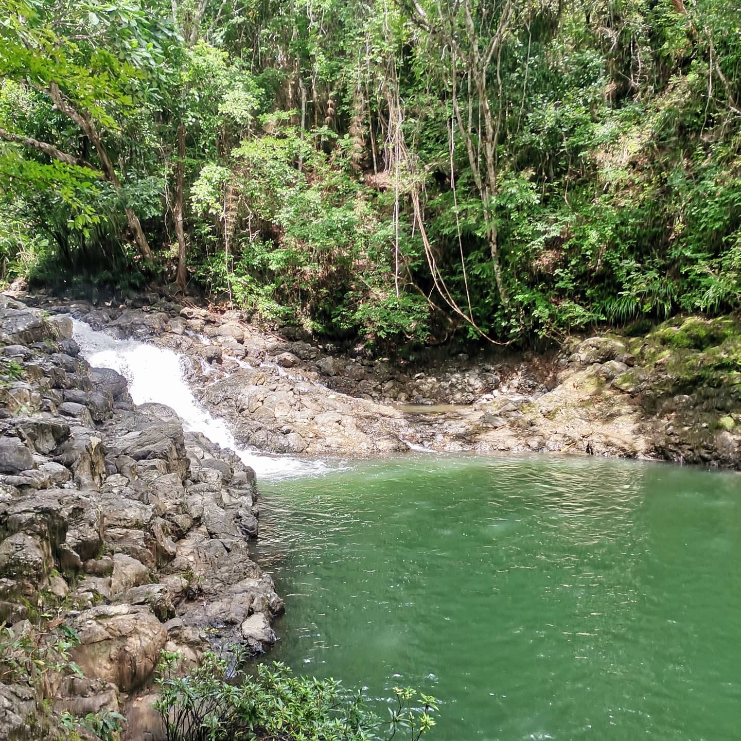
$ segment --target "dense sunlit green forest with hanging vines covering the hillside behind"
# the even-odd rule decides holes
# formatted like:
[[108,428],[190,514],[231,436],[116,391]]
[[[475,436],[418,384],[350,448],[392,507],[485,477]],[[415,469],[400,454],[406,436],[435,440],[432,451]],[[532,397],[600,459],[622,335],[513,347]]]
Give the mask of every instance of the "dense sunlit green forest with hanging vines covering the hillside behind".
[[180,254],[393,341],[739,305],[737,0],[0,5],[5,279]]

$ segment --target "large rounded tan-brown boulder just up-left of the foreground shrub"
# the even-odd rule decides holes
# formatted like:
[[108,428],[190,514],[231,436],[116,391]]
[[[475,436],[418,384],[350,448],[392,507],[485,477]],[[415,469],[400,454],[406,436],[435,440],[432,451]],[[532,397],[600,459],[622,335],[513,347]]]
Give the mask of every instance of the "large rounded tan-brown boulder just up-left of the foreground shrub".
[[124,692],[150,678],[167,641],[162,623],[139,605],[99,605],[74,618],[73,628],[80,645],[70,653],[84,675]]

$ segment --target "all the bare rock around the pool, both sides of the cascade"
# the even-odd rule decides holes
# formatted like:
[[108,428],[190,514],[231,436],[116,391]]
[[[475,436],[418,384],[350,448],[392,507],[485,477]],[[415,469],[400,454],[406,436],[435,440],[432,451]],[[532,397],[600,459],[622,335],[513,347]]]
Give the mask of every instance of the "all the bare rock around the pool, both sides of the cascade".
[[68,653],[80,674],[55,665],[43,687],[1,674],[9,740],[44,737],[64,711],[123,710],[125,737],[150,737],[163,649],[183,665],[214,645],[263,651],[283,609],[247,548],[259,514],[253,471],[184,431],[172,409],[134,405],[123,376],[90,368],[70,317],[182,353],[203,407],[260,451],[550,451],[741,468],[733,318],[574,338],[540,358],[459,355],[420,368],[156,296],[110,307],[24,299],[36,308],[0,296],[4,650],[26,656],[51,635],[40,619],[63,623],[79,637]]

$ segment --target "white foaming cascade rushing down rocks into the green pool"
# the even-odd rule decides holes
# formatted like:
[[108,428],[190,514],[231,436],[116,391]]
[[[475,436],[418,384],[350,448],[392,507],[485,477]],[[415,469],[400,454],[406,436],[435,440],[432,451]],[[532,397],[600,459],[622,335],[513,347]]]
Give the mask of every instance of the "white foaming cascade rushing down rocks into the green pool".
[[202,408],[188,388],[183,373],[183,358],[165,348],[130,339],[114,339],[97,332],[90,325],[74,323],[74,339],[90,365],[113,368],[129,382],[135,404],[165,404],[182,419],[185,428],[202,432],[222,448],[230,448],[245,465],[253,468],[259,479],[289,479],[316,476],[328,471],[322,461],[308,461],[290,456],[270,456],[241,448],[222,419],[215,419]]

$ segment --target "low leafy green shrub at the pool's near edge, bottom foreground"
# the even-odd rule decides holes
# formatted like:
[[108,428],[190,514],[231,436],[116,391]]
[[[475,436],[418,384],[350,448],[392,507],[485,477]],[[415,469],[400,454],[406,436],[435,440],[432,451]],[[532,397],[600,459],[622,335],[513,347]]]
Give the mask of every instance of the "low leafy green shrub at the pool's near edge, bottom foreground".
[[230,659],[205,654],[185,677],[170,676],[177,660],[163,654],[157,679],[167,741],[371,741],[397,732],[419,741],[435,725],[435,699],[408,688],[394,689],[390,718],[381,720],[362,694],[331,679],[295,677],[280,663],[242,677],[234,671],[239,652]]

